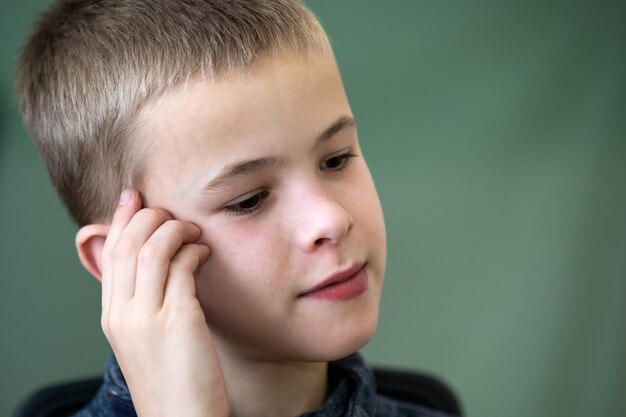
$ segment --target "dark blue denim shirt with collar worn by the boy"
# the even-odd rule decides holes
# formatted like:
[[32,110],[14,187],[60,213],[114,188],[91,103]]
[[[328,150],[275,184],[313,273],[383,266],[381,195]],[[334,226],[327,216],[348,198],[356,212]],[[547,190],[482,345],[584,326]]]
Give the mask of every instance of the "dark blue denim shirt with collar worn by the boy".
[[[300,417],[445,417],[417,405],[378,395],[372,370],[355,353],[329,365],[332,393],[317,411]],[[136,417],[130,392],[111,355],[104,382],[95,397],[74,417]]]

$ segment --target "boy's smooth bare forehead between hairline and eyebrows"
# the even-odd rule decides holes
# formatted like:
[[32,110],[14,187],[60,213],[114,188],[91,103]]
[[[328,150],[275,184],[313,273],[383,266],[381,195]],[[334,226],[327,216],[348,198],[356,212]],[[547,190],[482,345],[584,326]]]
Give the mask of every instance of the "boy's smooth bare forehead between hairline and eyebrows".
[[332,53],[275,56],[250,73],[193,80],[146,103],[137,140],[145,172],[178,171],[204,153],[204,167],[234,158],[283,153],[338,116],[350,114]]

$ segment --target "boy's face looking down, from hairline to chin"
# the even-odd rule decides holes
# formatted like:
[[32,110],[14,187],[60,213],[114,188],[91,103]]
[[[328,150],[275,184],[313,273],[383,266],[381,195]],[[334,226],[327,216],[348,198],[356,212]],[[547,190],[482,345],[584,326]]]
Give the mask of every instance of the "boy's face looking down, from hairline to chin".
[[[385,229],[330,52],[188,83],[138,120],[146,206],[211,248],[196,284],[218,347],[320,361],[371,338]],[[345,282],[313,291],[329,278]]]

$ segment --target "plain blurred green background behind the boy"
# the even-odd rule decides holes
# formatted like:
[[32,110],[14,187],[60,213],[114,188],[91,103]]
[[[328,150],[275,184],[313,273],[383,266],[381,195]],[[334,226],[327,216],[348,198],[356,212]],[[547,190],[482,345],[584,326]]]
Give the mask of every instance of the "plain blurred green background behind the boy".
[[[0,415],[108,351],[12,96],[48,3],[0,14]],[[441,376],[471,416],[626,415],[626,3],[309,4],[387,220],[369,360]]]

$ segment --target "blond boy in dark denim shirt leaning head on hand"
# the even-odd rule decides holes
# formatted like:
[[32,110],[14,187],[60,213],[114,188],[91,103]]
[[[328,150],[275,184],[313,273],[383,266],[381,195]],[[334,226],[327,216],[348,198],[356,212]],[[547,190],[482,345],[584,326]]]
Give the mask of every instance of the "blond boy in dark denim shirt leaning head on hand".
[[115,356],[80,416],[434,415],[376,396],[351,355],[376,328],[385,230],[304,6],[61,1],[19,91],[102,281]]

